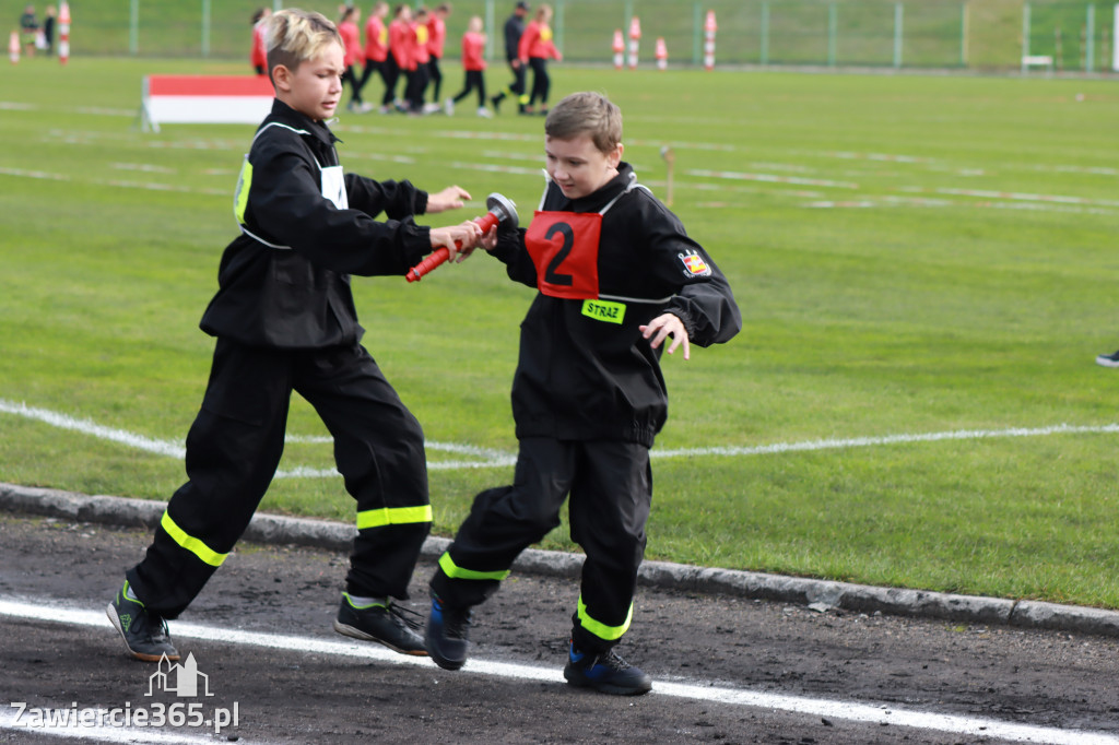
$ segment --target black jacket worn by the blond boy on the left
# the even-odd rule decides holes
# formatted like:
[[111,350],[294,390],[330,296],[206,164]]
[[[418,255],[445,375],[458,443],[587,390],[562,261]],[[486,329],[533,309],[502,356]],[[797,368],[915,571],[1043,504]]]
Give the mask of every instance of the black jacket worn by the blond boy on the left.
[[[323,196],[336,141],[326,124],[273,103],[246,155],[235,205],[242,235],[222,256],[206,333],[284,349],[356,343],[364,329],[349,275],[403,275],[431,251],[431,229],[412,220],[427,192],[408,181],[346,173],[349,208]],[[374,220],[380,213],[388,219]]]

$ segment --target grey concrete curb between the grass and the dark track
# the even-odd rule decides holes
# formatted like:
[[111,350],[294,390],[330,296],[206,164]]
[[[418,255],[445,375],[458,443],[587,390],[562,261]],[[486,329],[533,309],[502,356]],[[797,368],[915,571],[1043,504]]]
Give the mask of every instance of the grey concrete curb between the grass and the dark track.
[[[0,483],[0,509],[9,512],[41,515],[81,522],[153,528],[159,525],[166,507],[164,502],[159,501],[91,497],[54,489]],[[253,517],[244,538],[264,544],[293,544],[347,553],[355,532],[352,526],[340,522],[257,513]],[[423,554],[436,557],[446,550],[450,543],[446,538],[429,538],[424,543]],[[577,577],[582,566],[583,557],[580,555],[530,548],[520,555],[513,568],[534,574]],[[796,603],[820,611],[843,609],[858,613],[881,612],[966,623],[1119,636],[1117,611],[1037,601],[874,587],[668,562],[646,562],[641,566],[638,581],[651,587]]]

